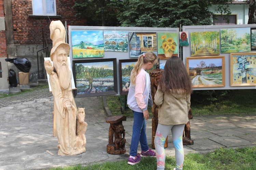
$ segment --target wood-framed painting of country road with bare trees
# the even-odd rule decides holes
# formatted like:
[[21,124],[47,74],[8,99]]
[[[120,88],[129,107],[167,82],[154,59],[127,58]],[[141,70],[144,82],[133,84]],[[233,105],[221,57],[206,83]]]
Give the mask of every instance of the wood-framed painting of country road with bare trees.
[[187,57],[186,67],[194,88],[225,87],[225,56]]

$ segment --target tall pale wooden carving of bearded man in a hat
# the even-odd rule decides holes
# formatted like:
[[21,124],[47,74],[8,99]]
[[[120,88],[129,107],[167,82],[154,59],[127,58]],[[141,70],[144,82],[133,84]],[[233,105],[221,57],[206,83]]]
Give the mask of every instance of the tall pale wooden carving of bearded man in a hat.
[[81,122],[82,118],[79,119],[82,126],[79,126],[81,128],[79,131],[80,137],[77,138],[76,120],[78,112],[72,94],[71,72],[68,68],[67,58],[70,46],[65,43],[66,31],[61,21],[52,21],[50,32],[50,37],[53,40],[53,48],[51,50],[53,66],[49,60],[44,62],[44,66],[49,74],[54,96],[53,113],[58,138],[58,155],[77,155],[85,152],[86,139],[80,132],[85,132],[87,125],[85,125],[86,122]]

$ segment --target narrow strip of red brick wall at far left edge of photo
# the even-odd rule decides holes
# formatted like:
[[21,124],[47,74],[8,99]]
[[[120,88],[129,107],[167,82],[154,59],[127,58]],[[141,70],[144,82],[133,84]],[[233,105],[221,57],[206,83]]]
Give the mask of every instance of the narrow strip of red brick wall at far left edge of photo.
[[[3,0],[0,0],[0,17],[0,24],[4,24]],[[7,57],[5,30],[2,29],[0,29],[0,57]]]

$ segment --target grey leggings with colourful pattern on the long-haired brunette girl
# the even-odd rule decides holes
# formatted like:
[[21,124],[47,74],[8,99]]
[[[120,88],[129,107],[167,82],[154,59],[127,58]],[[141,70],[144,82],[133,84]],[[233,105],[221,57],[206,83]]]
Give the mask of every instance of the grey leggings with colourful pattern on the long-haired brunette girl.
[[160,124],[157,125],[156,136],[155,136],[155,148],[156,148],[156,159],[157,169],[165,169],[165,139],[172,131],[173,144],[175,148],[175,159],[176,159],[176,170],[180,170],[183,167],[184,162],[184,150],[182,143],[182,135],[185,124]]

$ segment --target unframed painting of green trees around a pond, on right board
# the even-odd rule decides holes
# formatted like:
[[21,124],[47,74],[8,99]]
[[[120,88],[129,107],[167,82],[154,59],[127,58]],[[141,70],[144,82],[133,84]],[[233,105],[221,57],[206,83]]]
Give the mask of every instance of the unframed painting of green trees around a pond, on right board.
[[251,51],[251,29],[221,29],[221,53]]

